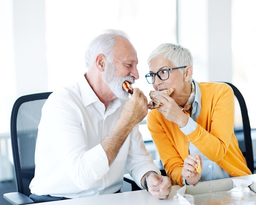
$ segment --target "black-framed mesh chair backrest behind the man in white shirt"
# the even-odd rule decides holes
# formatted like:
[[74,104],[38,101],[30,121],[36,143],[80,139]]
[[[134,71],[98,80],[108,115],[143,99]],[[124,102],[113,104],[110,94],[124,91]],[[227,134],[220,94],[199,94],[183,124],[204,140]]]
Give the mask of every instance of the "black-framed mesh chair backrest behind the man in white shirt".
[[18,192],[29,196],[35,174],[38,124],[45,100],[51,93],[25,95],[16,100],[11,112],[11,144]]

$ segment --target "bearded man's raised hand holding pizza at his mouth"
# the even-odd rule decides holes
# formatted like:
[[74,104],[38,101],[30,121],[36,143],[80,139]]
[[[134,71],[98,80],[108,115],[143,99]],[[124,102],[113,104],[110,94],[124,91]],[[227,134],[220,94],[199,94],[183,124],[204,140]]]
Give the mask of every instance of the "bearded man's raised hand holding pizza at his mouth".
[[142,121],[148,114],[147,97],[139,88],[134,88],[132,97],[126,102],[120,115],[120,119],[132,128]]

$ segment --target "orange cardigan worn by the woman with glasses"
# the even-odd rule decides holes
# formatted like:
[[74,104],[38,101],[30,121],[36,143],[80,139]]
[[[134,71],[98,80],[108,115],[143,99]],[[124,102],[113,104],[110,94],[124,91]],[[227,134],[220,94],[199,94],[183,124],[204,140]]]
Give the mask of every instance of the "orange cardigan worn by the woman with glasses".
[[201,111],[196,129],[185,135],[176,123],[165,119],[157,109],[148,113],[148,129],[164,169],[175,185],[182,183],[181,170],[189,155],[189,142],[216,162],[231,176],[252,174],[238,148],[234,134],[234,93],[224,83],[198,83]]

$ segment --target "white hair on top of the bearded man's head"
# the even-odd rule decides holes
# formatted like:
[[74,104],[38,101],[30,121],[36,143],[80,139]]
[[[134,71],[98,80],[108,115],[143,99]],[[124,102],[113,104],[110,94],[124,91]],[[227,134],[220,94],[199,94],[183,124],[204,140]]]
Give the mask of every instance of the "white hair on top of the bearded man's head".
[[129,40],[124,31],[114,29],[105,30],[92,40],[85,52],[85,66],[88,69],[94,66],[96,56],[100,53],[106,56],[108,62],[113,62],[115,37],[124,37]]

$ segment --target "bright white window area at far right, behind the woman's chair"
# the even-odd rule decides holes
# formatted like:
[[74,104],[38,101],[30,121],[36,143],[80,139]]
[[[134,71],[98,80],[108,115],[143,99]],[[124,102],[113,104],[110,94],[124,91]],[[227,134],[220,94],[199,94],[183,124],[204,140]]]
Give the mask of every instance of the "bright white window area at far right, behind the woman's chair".
[[[246,5],[246,6],[245,6]],[[240,90],[249,113],[250,124],[256,128],[255,76],[256,76],[256,1],[232,0],[232,60],[233,84]]]

